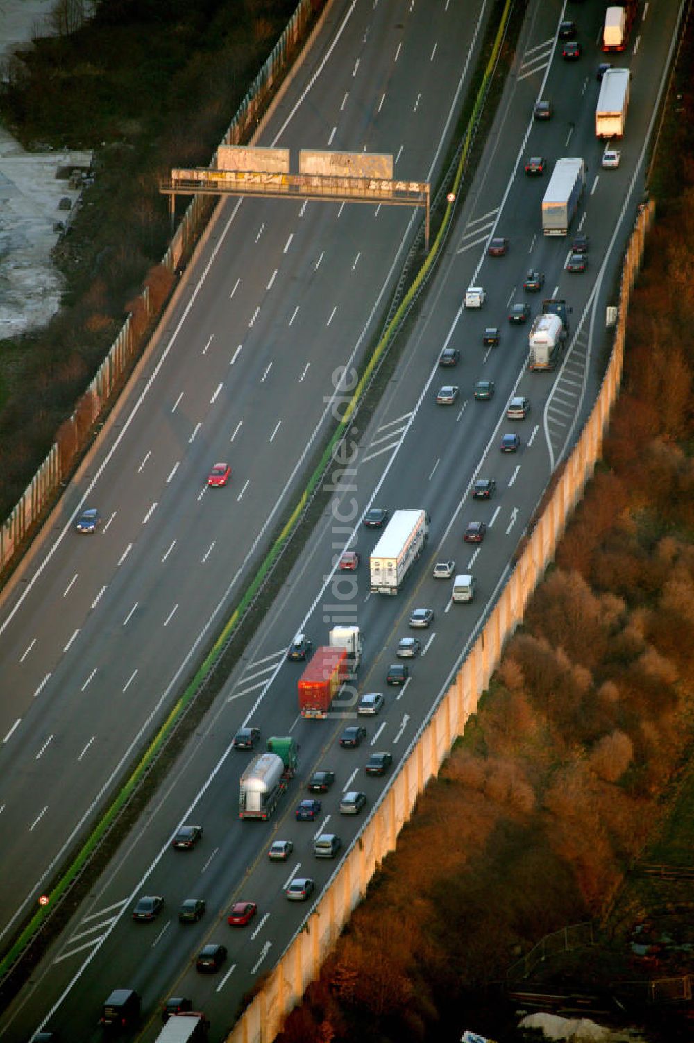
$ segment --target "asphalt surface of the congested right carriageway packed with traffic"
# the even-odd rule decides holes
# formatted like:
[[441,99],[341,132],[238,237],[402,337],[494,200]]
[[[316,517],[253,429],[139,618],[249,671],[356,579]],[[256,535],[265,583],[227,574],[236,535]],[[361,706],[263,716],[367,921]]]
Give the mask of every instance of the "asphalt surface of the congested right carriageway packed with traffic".
[[[326,513],[169,784],[124,842],[32,986],[4,1019],[1,1038],[25,1039],[48,1018],[69,1039],[97,1039],[99,1004],[112,988],[123,986],[142,993],[147,1015],[153,1015],[157,1003],[167,995],[191,996],[212,1020],[211,1038],[223,1038],[243,994],[301,926],[306,908],[287,902],[284,887],[296,872],[313,876],[320,886],[334,868],[313,858],[310,842],[314,833],[328,828],[338,832],[345,846],[353,841],[359,820],[339,816],[342,791],[363,790],[369,806],[379,799],[383,782],[363,774],[368,752],[390,750],[394,771],[448,684],[507,575],[509,558],[553,463],[564,452],[574,420],[579,421],[590,409],[597,379],[595,354],[603,337],[600,310],[641,197],[644,140],[678,8],[669,5],[660,10],[659,19],[640,22],[629,49],[613,58],[633,71],[632,100],[622,166],[605,173],[598,172],[602,146],[593,131],[595,68],[602,59],[595,46],[601,9],[597,4],[575,7],[584,55],[568,65],[558,55],[552,56],[558,5],[556,9],[554,5],[529,8],[517,65],[480,175],[402,364],[355,451],[357,489],[335,498],[345,517],[354,509],[354,498],[353,524],[374,496],[379,506],[391,510],[426,507],[432,518],[427,554],[401,596],[370,596],[366,558],[378,534],[358,528],[351,544],[362,554],[358,588],[338,587],[331,578],[331,559],[344,544],[345,534],[338,531],[343,526],[336,524],[335,509]],[[547,84],[541,87],[546,74]],[[534,101],[545,93],[554,102],[554,119],[533,123]],[[581,154],[589,164],[589,189],[575,224],[591,240],[584,274],[565,272],[566,240],[545,240],[540,233],[546,178],[533,180],[522,172],[525,155],[539,152],[551,161],[561,154]],[[510,249],[505,258],[486,259],[485,243],[495,228],[510,239]],[[529,300],[533,314],[537,310],[537,297],[522,293],[523,276],[531,265],[546,274],[546,288],[552,292],[556,288],[573,307],[566,365],[555,374],[527,372],[527,328],[513,329],[505,318],[516,299]],[[479,314],[460,307],[462,291],[473,281],[481,282],[488,293]],[[499,347],[486,349],[481,332],[489,323],[501,328],[502,341]],[[445,344],[460,347],[462,360],[456,369],[439,371],[436,359]],[[496,382],[496,396],[489,403],[471,398],[472,385],[479,379]],[[442,383],[460,385],[455,406],[435,406],[435,390]],[[504,408],[517,390],[530,397],[532,410],[523,421],[508,421]],[[522,437],[517,455],[499,453],[499,438],[506,431],[518,431]],[[496,479],[496,496],[488,503],[470,499],[471,483],[478,475]],[[461,540],[466,522],[473,518],[488,526],[479,549]],[[450,583],[431,578],[433,561],[439,557],[455,558],[458,572],[472,571],[478,577],[473,605],[450,605]],[[412,680],[404,689],[387,689],[385,672],[393,661],[399,637],[410,633],[407,620],[417,605],[428,605],[436,613],[430,630],[422,632],[423,655],[412,662]],[[366,722],[367,739],[356,751],[337,746],[343,717],[305,722],[297,715],[295,682],[302,668],[285,662],[287,645],[297,629],[305,629],[317,645],[327,639],[334,622],[343,621],[358,622],[365,634],[360,693],[380,690],[386,697],[381,714]],[[298,779],[269,824],[236,818],[238,778],[249,755],[231,751],[229,744],[246,720],[257,724],[264,737],[291,733],[301,744]],[[294,807],[304,796],[308,776],[318,767],[335,771],[335,786],[324,798],[315,825],[296,823]],[[173,852],[168,841],[184,819],[202,824],[205,836],[195,851]],[[265,856],[271,839],[280,836],[294,841],[294,856],[287,866],[270,865]],[[129,920],[127,914],[141,894],[166,898],[166,908],[154,924]],[[175,922],[178,902],[198,896],[207,899],[206,917],[199,925],[180,927]],[[232,929],[225,924],[225,914],[241,898],[257,901],[259,914],[252,926]],[[202,977],[191,961],[207,941],[228,945],[229,960],[218,974]],[[152,1021],[143,1038],[154,1035]]]

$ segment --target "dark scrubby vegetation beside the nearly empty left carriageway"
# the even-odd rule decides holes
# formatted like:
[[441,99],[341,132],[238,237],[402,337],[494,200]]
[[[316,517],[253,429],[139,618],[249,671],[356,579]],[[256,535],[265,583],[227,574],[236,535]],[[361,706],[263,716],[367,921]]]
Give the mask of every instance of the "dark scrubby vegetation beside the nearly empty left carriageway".
[[[0,518],[46,457],[169,237],[159,179],[209,163],[294,0],[56,0],[22,60],[5,63],[0,122],[27,148],[94,149],[85,193],[54,258],[63,308],[48,326],[0,341]],[[70,427],[68,425],[68,427]],[[80,428],[79,422],[77,429]],[[62,452],[80,430],[66,432]]]

